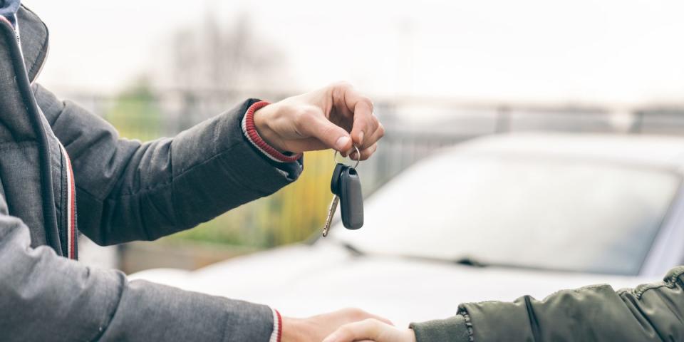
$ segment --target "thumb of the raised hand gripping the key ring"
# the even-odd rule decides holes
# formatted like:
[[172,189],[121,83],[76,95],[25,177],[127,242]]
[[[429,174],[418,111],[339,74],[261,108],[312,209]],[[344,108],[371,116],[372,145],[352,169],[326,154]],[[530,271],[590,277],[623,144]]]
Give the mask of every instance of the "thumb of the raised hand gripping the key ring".
[[321,140],[328,148],[346,152],[352,148],[352,140],[346,130],[331,123],[325,116],[318,113],[304,113],[300,116],[297,126],[304,135]]

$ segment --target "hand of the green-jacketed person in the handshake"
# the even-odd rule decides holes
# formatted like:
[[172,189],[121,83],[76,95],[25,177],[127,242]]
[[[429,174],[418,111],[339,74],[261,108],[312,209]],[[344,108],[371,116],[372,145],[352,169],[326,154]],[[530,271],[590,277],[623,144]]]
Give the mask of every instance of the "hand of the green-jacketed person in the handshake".
[[399,329],[383,321],[368,318],[338,328],[323,342],[415,342],[413,329]]

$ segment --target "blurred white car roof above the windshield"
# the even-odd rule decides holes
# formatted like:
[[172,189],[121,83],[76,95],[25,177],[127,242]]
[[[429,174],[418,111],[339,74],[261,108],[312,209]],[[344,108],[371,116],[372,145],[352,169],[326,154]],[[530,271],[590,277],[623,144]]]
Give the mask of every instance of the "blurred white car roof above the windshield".
[[596,133],[509,133],[488,135],[456,147],[460,153],[567,157],[683,173],[684,138]]

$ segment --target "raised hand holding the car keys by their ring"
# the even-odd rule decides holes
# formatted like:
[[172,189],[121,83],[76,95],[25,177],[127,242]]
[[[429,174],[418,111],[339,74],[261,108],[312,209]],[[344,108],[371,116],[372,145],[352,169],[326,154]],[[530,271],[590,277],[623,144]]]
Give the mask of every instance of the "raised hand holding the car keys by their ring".
[[[254,125],[262,139],[280,152],[304,152],[332,148],[343,154],[356,145],[366,160],[385,134],[373,115],[373,103],[348,83],[286,98],[254,113]],[[351,152],[352,159],[358,159]]]

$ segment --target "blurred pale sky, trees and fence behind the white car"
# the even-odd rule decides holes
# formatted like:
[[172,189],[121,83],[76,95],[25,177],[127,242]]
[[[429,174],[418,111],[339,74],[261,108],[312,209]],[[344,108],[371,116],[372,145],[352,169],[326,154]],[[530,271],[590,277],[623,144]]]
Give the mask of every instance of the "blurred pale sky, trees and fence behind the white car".
[[[345,80],[386,128],[364,195],[465,140],[529,131],[684,134],[681,1],[26,0],[51,31],[38,79],[125,138],[172,136],[244,98]],[[197,229],[82,259],[197,269],[320,233],[331,152]],[[306,205],[302,205],[306,203]]]

